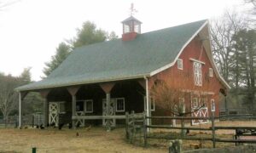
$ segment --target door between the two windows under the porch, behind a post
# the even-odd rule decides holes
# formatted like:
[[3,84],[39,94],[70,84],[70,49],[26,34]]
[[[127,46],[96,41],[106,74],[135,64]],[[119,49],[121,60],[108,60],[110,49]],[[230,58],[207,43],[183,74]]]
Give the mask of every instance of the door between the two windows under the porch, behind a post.
[[[106,99],[102,100],[102,116],[107,116],[107,101]],[[109,116],[115,116],[115,99],[110,100],[110,112]],[[102,125],[106,126],[107,120],[102,119]],[[115,119],[110,120],[111,127],[115,127]]]

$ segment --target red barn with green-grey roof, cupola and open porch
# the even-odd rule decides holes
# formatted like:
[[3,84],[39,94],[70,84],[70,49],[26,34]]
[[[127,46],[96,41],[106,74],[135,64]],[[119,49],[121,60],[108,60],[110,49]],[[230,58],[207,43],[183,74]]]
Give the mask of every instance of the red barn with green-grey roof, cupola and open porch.
[[[149,100],[157,80],[186,79],[186,110],[203,104],[192,116],[208,116],[215,105],[218,116],[219,93],[230,87],[212,59],[207,20],[143,34],[142,22],[134,17],[122,23],[121,39],[75,48],[49,77],[17,88],[20,126],[22,99],[29,92],[39,92],[45,99],[45,126],[64,121],[115,126],[124,122],[125,111],[166,115],[157,102]],[[192,123],[198,122],[204,121]]]

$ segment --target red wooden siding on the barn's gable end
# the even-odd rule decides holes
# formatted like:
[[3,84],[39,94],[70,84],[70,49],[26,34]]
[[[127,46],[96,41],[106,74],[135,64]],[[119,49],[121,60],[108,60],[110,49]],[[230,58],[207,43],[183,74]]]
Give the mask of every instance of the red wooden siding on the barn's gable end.
[[[194,82],[194,71],[193,71],[193,61],[190,59],[197,59],[201,62],[204,62],[205,65],[201,66],[202,71],[202,86],[195,86]],[[210,100],[215,99],[216,105],[216,116],[218,116],[218,93],[220,88],[224,88],[224,86],[219,82],[218,78],[213,72],[213,77],[208,77],[209,68],[212,68],[210,60],[208,59],[205,48],[202,47],[202,43],[199,37],[195,37],[189,45],[183,49],[182,54],[180,54],[178,59],[183,59],[183,70],[177,69],[177,62],[171,68],[166,69],[166,71],[161,71],[156,74],[154,77],[151,77],[149,81],[154,82],[155,80],[163,80],[172,82],[173,87],[182,86],[185,90],[193,90],[199,92],[211,92],[212,95],[208,95],[207,105],[210,109]],[[188,106],[190,106],[190,100],[185,98],[185,102]],[[157,104],[156,104],[157,105]],[[209,111],[210,112],[210,111]],[[159,115],[160,112],[153,112],[153,115]],[[165,113],[166,114],[166,113]]]

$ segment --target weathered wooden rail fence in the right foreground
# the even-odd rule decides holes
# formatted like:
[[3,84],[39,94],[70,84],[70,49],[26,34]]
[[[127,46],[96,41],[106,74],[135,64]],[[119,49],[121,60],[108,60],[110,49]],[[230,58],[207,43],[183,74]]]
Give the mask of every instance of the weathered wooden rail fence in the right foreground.
[[[181,124],[181,127],[172,127],[170,125],[147,125],[147,120],[179,120],[180,122],[186,120],[210,120],[212,122],[211,127],[186,127]],[[135,114],[132,112],[128,114],[126,112],[126,139],[131,143],[134,142],[137,133],[141,133],[140,137],[143,138],[144,146],[148,145],[148,139],[186,139],[186,140],[209,140],[212,141],[212,147],[215,148],[217,142],[224,143],[256,143],[256,139],[241,139],[242,137],[250,138],[251,136],[256,136],[256,127],[216,127],[215,119],[212,114],[211,117],[191,117],[191,116],[146,116],[145,113]],[[180,129],[181,131],[210,131],[211,137],[190,137],[184,133],[179,136],[161,136],[157,134],[151,134],[149,129],[152,128],[162,128],[162,129]],[[235,130],[236,134],[233,139],[219,139],[216,138],[216,130]]]

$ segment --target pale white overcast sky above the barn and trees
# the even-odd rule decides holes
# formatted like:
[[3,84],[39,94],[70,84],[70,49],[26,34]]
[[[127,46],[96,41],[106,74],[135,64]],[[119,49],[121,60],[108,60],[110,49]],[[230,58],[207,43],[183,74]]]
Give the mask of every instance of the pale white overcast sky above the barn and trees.
[[142,32],[217,18],[225,9],[241,10],[243,5],[242,0],[17,0],[0,11],[0,71],[18,76],[32,67],[32,79],[40,80],[44,62],[84,21],[120,37],[120,22],[129,17],[131,3],[143,22]]

